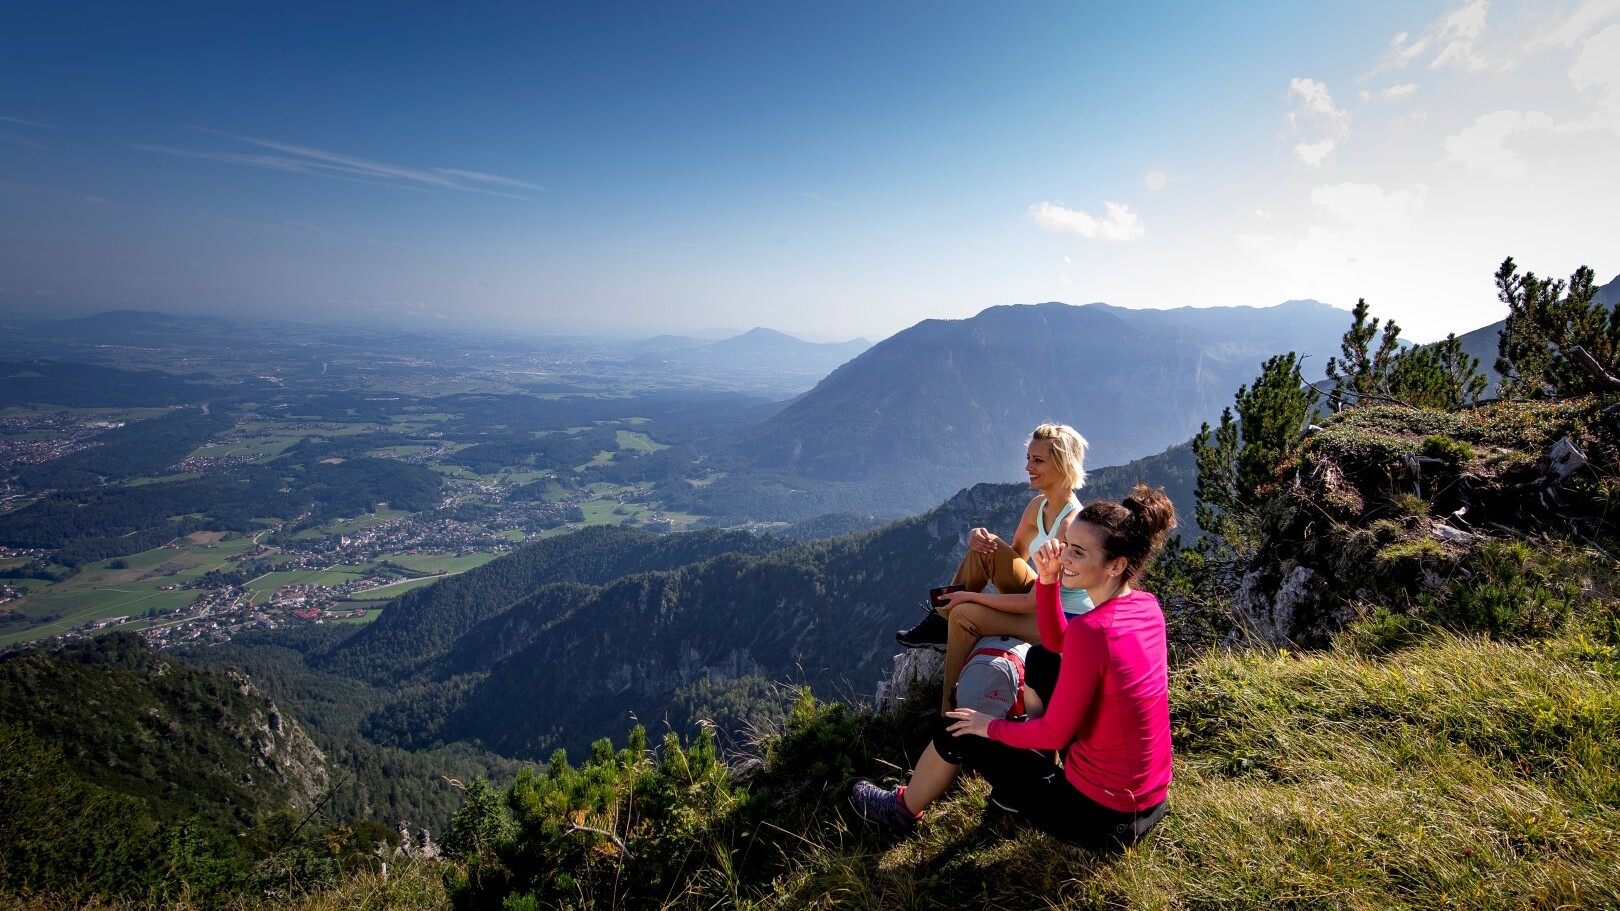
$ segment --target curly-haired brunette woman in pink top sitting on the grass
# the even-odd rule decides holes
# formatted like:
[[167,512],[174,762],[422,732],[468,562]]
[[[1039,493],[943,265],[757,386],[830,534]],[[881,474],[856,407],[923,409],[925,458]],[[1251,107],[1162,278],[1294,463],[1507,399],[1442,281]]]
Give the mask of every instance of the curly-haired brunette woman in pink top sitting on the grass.
[[[1094,503],[1035,553],[1037,618],[1059,652],[1047,713],[1030,721],[970,708],[948,713],[907,786],[857,781],[850,799],[870,822],[910,828],[967,762],[991,801],[1047,833],[1097,851],[1131,845],[1165,815],[1170,788],[1170,661],[1158,600],[1134,588],[1174,507],[1137,486],[1124,503]],[[1066,618],[1059,588],[1085,588],[1095,608]],[[1038,751],[1061,749],[1063,768]]]

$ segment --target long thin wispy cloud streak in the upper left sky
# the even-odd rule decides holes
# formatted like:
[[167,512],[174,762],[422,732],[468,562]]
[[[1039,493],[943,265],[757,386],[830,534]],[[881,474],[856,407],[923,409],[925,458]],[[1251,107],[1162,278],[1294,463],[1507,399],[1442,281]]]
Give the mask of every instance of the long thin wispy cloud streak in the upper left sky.
[[233,143],[258,146],[261,149],[269,149],[272,152],[280,152],[280,154],[267,156],[267,154],[254,154],[245,151],[180,149],[173,146],[152,146],[146,143],[126,143],[126,144],[131,149],[139,149],[144,152],[217,160],[224,164],[258,167],[264,170],[280,170],[288,173],[311,173],[316,177],[329,177],[335,180],[355,180],[361,183],[392,186],[397,190],[441,190],[441,191],[458,191],[458,193],[483,193],[486,196],[502,196],[507,199],[525,199],[525,201],[530,198],[517,193],[491,190],[489,186],[484,185],[510,186],[518,190],[533,190],[544,193],[544,186],[530,183],[526,180],[499,177],[494,173],[483,173],[476,170],[462,170],[449,167],[424,170],[408,165],[397,165],[390,162],[379,162],[373,159],[345,156],[340,152],[329,152],[326,149],[316,149],[313,146],[298,146],[293,143],[280,143],[275,139],[259,139],[256,136],[238,136],[235,133],[227,133],[224,130],[211,130],[207,126],[194,126],[193,130],[196,130],[198,133],[206,133],[209,136],[219,136],[224,139],[230,139]]

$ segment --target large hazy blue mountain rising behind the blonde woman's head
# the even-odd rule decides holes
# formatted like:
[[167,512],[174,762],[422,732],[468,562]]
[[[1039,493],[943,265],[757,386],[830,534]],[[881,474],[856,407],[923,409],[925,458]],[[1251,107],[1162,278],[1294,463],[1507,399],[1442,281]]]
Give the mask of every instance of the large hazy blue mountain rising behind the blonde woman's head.
[[[1187,314],[1197,327],[1173,327]],[[1074,425],[1090,441],[1090,464],[1184,443],[1267,357],[1336,352],[1346,324],[1345,311],[1315,302],[1210,313],[1001,305],[925,319],[834,370],[727,452],[789,481],[873,485],[878,504],[920,509],[1016,477],[1022,441],[1042,421]]]

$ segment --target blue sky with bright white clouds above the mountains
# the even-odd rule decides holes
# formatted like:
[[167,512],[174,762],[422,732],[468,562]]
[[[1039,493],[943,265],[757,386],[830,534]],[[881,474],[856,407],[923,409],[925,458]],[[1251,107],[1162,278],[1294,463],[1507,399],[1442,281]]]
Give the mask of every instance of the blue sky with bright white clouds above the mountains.
[[[34,6],[34,8],[21,8]],[[878,339],[1620,269],[1620,0],[32,3],[0,308]]]

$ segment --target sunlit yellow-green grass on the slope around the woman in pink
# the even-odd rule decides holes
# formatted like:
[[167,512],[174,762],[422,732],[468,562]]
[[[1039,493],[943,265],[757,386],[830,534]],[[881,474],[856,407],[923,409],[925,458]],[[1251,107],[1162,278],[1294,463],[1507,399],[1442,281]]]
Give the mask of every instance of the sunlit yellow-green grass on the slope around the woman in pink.
[[[875,853],[841,820],[768,908],[1615,908],[1620,665],[1580,632],[1372,660],[1212,653],[1171,682],[1165,822],[1116,858],[978,828],[967,781]],[[1016,867],[1017,875],[1004,875]]]

